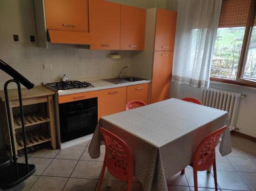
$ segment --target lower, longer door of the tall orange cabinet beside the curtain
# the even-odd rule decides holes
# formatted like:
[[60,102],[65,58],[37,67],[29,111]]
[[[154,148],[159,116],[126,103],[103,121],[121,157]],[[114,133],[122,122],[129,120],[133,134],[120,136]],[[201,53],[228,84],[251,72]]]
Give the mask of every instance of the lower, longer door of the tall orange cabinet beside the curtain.
[[169,99],[173,51],[156,51],[153,63],[151,103]]

